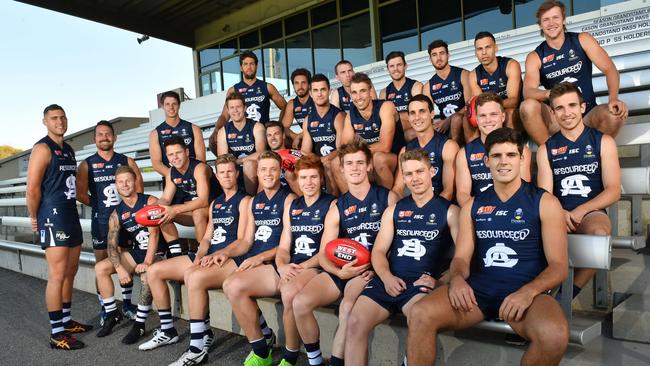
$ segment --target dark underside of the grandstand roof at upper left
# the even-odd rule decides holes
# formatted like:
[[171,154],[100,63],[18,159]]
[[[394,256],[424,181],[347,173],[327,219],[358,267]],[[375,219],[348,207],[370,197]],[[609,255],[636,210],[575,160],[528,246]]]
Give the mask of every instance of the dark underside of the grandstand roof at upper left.
[[195,48],[194,32],[258,0],[18,0]]

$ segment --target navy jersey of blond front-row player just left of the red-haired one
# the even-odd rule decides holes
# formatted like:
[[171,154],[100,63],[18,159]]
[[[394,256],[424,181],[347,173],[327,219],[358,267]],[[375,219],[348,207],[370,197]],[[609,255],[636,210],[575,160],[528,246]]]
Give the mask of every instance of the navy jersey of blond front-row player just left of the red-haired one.
[[273,249],[280,244],[282,235],[282,215],[284,200],[291,193],[288,187],[281,187],[269,198],[262,190],[253,197],[253,222],[255,223],[255,240],[247,257]]

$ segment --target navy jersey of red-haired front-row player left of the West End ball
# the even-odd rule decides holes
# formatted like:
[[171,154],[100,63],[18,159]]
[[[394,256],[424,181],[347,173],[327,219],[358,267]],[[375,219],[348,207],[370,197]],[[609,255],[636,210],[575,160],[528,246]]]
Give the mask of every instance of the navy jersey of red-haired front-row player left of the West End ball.
[[325,215],[334,199],[322,193],[311,206],[307,206],[304,196],[291,202],[291,263],[302,263],[318,254]]

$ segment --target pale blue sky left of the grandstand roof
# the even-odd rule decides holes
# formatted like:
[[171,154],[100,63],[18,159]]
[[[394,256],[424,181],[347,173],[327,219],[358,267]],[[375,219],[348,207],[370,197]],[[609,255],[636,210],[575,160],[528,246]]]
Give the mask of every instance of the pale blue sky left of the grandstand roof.
[[47,133],[43,109],[61,105],[68,134],[115,117],[148,117],[156,95],[194,98],[192,50],[14,1],[0,1],[0,145],[22,149]]

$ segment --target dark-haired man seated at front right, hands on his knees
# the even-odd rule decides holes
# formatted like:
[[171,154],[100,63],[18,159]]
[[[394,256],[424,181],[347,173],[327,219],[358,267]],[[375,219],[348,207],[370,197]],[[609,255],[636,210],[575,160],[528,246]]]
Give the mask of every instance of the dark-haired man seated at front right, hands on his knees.
[[[550,193],[519,175],[523,138],[507,127],[485,141],[494,185],[460,212],[458,241],[443,285],[413,304],[408,318],[408,364],[431,365],[436,337],[484,319],[502,319],[530,341],[523,365],[557,365],[569,325],[546,292],[569,266],[562,207]],[[472,262],[472,258],[478,260]],[[470,263],[476,263],[471,267]]]

